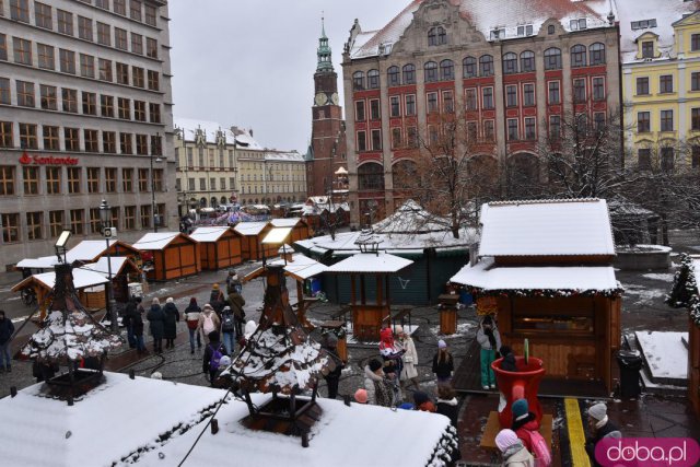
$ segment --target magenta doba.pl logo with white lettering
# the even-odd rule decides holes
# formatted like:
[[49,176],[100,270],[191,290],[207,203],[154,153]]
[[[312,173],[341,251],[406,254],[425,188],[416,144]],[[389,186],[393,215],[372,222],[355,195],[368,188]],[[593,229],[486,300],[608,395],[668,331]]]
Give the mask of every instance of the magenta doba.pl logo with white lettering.
[[691,437],[605,437],[595,458],[604,467],[692,467],[700,445]]

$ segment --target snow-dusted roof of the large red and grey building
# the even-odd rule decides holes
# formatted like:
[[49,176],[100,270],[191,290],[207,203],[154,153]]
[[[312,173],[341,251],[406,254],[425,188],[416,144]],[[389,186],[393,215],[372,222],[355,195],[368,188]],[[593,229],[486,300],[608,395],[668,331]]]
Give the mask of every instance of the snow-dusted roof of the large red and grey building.
[[[358,34],[354,42],[350,44],[350,57],[352,59],[376,57],[382,46],[395,44],[413,21],[413,13],[422,2],[423,0],[411,1],[377,32]],[[588,30],[611,27],[606,19],[609,8],[600,13],[588,7],[587,1],[500,0],[498,8],[494,8],[492,2],[483,0],[452,0],[451,2],[458,3],[460,15],[483,34],[487,40],[493,40],[491,38],[493,30],[504,30],[505,34],[499,36],[500,40],[522,37],[517,35],[517,26],[523,25],[533,25],[533,33],[537,34],[550,17],[559,20],[564,31],[571,31],[570,21],[579,19],[586,20]],[[386,48],[384,50],[386,51]]]

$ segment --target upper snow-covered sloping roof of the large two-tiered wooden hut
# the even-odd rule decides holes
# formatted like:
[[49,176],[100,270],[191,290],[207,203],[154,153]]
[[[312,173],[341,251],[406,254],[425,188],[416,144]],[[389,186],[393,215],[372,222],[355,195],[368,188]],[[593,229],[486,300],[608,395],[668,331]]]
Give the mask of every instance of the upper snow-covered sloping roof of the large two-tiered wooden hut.
[[604,199],[490,202],[479,256],[615,255]]

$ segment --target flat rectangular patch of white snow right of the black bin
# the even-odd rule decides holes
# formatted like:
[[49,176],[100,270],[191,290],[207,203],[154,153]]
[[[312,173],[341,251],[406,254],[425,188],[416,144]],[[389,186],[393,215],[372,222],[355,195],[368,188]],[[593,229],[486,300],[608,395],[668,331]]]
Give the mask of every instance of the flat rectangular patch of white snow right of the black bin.
[[652,377],[687,380],[688,332],[637,331],[637,341],[644,353]]

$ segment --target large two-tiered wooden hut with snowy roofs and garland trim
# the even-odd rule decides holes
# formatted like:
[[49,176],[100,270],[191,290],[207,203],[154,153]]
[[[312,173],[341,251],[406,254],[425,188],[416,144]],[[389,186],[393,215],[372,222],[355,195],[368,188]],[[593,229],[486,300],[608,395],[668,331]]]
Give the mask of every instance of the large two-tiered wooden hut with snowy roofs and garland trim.
[[584,392],[591,385],[596,394],[603,384],[607,394],[620,346],[621,289],[606,201],[493,202],[482,207],[481,222],[478,261],[452,282],[477,297],[477,313],[497,315],[501,339],[515,353],[528,339],[548,377]]

